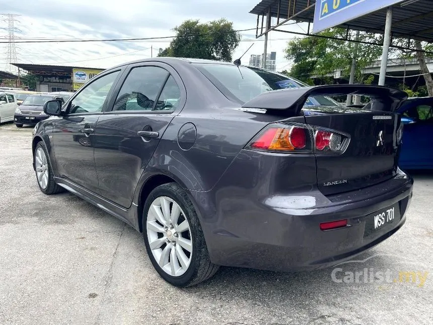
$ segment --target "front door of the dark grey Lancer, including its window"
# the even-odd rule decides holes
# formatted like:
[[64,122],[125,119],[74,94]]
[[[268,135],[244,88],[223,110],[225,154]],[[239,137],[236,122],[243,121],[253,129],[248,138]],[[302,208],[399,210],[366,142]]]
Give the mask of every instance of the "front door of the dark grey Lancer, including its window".
[[86,84],[67,103],[54,123],[52,142],[60,177],[98,193],[94,160],[94,129],[107,104],[120,69]]

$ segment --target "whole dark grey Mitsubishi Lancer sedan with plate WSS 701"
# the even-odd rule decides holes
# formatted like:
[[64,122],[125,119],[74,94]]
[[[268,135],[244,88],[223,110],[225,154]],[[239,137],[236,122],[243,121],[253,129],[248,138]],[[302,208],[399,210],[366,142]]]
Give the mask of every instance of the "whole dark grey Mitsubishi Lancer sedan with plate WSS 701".
[[[39,187],[66,189],[142,232],[155,269],[177,286],[220,265],[340,263],[406,220],[413,180],[397,166],[395,111],[407,96],[362,85],[281,89],[286,79],[167,57],[104,71],[63,107],[45,104],[56,117],[34,129]],[[325,97],[348,93],[370,96],[371,109]]]

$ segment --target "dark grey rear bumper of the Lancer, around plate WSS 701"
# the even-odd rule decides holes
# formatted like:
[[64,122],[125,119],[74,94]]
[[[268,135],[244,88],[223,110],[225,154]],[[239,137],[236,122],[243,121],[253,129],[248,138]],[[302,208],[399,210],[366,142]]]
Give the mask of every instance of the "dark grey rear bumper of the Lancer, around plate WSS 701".
[[[196,207],[211,261],[271,271],[329,267],[377,245],[406,221],[413,187],[413,179],[400,172],[383,183],[336,196],[325,197],[317,188],[266,195],[263,184],[255,186],[257,178],[249,175],[251,183],[227,186],[233,177],[229,170],[211,191],[191,192],[200,202]],[[394,204],[401,217],[367,233],[369,215]],[[319,228],[320,223],[341,219],[350,226]]]

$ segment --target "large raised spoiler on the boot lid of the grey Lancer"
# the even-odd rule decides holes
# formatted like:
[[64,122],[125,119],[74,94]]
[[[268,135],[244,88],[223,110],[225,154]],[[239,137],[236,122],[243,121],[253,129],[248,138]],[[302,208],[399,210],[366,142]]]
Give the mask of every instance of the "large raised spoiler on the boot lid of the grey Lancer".
[[396,111],[407,94],[396,88],[372,85],[326,85],[280,89],[262,93],[242,105],[262,108],[279,115],[297,116],[310,96],[364,95],[371,99],[373,111]]

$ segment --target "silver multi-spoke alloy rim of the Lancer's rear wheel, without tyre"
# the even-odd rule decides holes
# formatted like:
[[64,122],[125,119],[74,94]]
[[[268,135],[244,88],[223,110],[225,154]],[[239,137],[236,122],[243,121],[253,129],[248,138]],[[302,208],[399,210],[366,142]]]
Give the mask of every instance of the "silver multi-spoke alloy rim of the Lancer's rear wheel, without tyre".
[[191,228],[180,206],[169,197],[156,198],[147,215],[149,246],[156,262],[173,277],[183,275],[191,263]]

